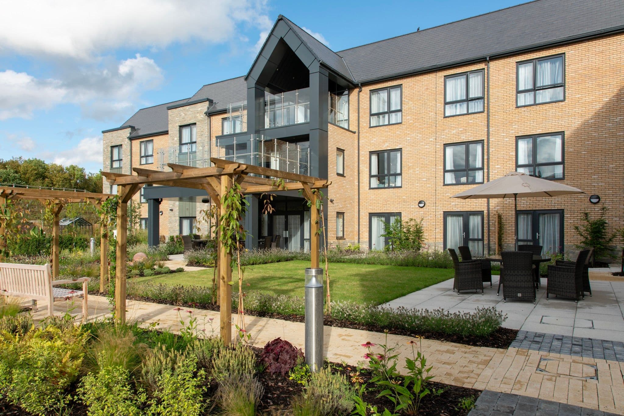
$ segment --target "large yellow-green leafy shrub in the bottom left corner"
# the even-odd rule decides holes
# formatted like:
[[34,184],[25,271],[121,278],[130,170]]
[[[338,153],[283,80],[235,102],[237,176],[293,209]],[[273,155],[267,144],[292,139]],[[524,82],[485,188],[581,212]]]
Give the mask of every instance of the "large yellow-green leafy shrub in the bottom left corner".
[[73,326],[49,325],[23,337],[5,335],[0,340],[0,395],[32,414],[59,409],[82,365],[84,341]]

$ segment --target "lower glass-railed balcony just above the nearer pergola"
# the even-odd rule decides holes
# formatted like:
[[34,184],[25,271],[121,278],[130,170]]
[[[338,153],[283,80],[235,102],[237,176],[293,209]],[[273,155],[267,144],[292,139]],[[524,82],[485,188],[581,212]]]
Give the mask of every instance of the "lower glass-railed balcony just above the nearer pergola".
[[218,158],[283,172],[309,175],[308,142],[288,143],[263,135],[240,135],[217,138]]

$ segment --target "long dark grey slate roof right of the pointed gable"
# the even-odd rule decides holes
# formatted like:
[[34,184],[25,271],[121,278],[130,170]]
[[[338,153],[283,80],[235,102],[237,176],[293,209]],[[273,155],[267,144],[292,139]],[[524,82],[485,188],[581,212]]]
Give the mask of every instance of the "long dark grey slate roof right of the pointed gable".
[[363,83],[622,29],[622,0],[536,0],[337,54]]

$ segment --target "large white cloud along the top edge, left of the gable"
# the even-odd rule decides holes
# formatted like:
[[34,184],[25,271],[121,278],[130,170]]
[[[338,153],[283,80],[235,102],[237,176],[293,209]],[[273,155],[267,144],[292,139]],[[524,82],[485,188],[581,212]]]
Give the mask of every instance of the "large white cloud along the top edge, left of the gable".
[[0,14],[0,51],[91,59],[117,47],[226,42],[241,24],[265,30],[265,20],[265,0],[10,1]]

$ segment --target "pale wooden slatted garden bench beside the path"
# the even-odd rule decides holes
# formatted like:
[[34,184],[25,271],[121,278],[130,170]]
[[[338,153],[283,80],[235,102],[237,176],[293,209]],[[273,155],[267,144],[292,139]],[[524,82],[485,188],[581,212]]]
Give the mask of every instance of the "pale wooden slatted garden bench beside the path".
[[[50,264],[0,263],[0,294],[32,299],[32,311],[36,301],[47,302],[48,316],[54,315],[54,302],[82,298],[82,322],[87,321],[87,282],[90,278],[52,281]],[[82,291],[54,288],[57,284],[82,282]]]

